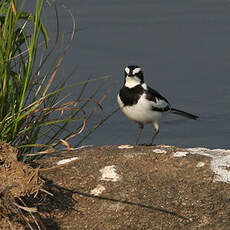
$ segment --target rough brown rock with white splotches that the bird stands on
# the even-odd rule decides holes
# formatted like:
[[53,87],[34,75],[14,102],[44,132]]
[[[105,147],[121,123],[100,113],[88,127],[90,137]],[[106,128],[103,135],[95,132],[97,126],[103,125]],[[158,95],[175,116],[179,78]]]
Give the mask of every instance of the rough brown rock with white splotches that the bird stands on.
[[[37,161],[53,194],[31,205],[41,229],[230,229],[230,185],[213,182],[210,158],[174,157],[176,151],[185,150],[103,146]],[[56,164],[72,157],[78,158]],[[102,178],[106,166],[114,167],[114,178]]]

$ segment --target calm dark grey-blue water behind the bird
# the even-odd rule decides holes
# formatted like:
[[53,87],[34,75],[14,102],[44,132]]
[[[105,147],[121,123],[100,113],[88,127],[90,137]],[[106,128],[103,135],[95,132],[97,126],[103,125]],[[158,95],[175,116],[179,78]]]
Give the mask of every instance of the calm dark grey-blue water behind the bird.
[[[230,1],[57,2],[62,30],[71,31],[62,4],[71,8],[80,28],[60,77],[76,65],[73,82],[111,75],[106,87],[115,84],[115,89],[104,104],[109,114],[117,107],[124,67],[140,65],[146,82],[174,107],[200,116],[191,121],[168,115],[157,144],[230,147]],[[55,23],[49,10],[45,16],[50,25]],[[137,125],[119,111],[85,144],[134,144],[136,132]],[[147,125],[142,142],[150,140],[152,132]]]

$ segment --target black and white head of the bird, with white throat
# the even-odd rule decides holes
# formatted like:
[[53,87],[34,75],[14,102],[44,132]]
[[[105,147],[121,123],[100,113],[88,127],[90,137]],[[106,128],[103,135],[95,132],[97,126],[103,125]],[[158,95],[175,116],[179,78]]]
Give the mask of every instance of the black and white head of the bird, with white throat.
[[125,86],[133,88],[144,83],[144,76],[141,68],[136,65],[125,67]]

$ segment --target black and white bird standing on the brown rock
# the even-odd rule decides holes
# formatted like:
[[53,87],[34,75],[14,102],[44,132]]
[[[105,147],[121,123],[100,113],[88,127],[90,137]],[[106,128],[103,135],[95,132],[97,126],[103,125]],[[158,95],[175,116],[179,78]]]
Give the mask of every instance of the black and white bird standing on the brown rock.
[[150,145],[159,133],[159,121],[164,113],[174,113],[196,120],[198,116],[172,108],[168,100],[144,82],[144,75],[139,66],[125,68],[124,86],[117,96],[118,104],[123,113],[139,124],[136,139],[138,144],[145,123],[152,123],[155,128]]

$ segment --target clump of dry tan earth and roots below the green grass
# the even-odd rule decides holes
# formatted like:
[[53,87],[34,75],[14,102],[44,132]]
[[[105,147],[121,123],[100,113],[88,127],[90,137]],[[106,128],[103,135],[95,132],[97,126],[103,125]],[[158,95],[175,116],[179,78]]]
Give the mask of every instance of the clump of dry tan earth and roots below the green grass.
[[0,229],[24,229],[22,223],[30,220],[23,212],[31,217],[37,213],[37,207],[28,207],[24,198],[35,197],[42,189],[44,180],[38,174],[38,168],[17,161],[16,148],[0,144]]

